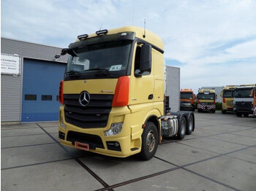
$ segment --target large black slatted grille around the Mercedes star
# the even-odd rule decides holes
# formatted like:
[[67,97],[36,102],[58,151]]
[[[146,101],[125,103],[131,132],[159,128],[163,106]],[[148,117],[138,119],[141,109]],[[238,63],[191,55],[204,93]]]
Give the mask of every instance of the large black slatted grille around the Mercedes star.
[[80,128],[104,128],[112,108],[113,95],[91,94],[90,103],[81,106],[80,94],[64,94],[65,120]]

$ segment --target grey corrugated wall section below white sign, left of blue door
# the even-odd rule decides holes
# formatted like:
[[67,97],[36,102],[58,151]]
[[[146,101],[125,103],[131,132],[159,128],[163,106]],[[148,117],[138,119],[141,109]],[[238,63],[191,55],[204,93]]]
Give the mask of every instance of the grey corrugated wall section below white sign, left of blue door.
[[20,122],[21,95],[22,76],[1,74],[1,122]]

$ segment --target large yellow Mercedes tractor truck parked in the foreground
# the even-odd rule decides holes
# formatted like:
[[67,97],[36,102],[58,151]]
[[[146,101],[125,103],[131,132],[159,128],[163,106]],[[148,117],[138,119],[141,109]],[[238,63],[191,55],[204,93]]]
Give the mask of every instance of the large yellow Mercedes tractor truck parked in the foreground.
[[183,139],[193,112],[164,113],[164,44],[135,26],[78,36],[60,83],[61,144],[114,157],[149,160],[163,139]]

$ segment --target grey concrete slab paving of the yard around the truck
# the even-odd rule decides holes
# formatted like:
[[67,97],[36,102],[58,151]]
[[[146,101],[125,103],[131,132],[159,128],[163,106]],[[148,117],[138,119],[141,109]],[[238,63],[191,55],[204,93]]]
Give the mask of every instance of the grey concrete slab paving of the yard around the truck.
[[256,190],[256,118],[195,112],[152,160],[62,147],[57,122],[1,126],[1,190]]

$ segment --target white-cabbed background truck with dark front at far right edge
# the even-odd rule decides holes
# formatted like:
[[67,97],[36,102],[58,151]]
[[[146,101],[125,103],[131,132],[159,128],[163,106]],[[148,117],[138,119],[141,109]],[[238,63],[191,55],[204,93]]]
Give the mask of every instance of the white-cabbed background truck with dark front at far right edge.
[[239,85],[234,91],[234,112],[236,116],[248,117],[253,114],[253,98],[251,96],[252,90],[255,85]]

